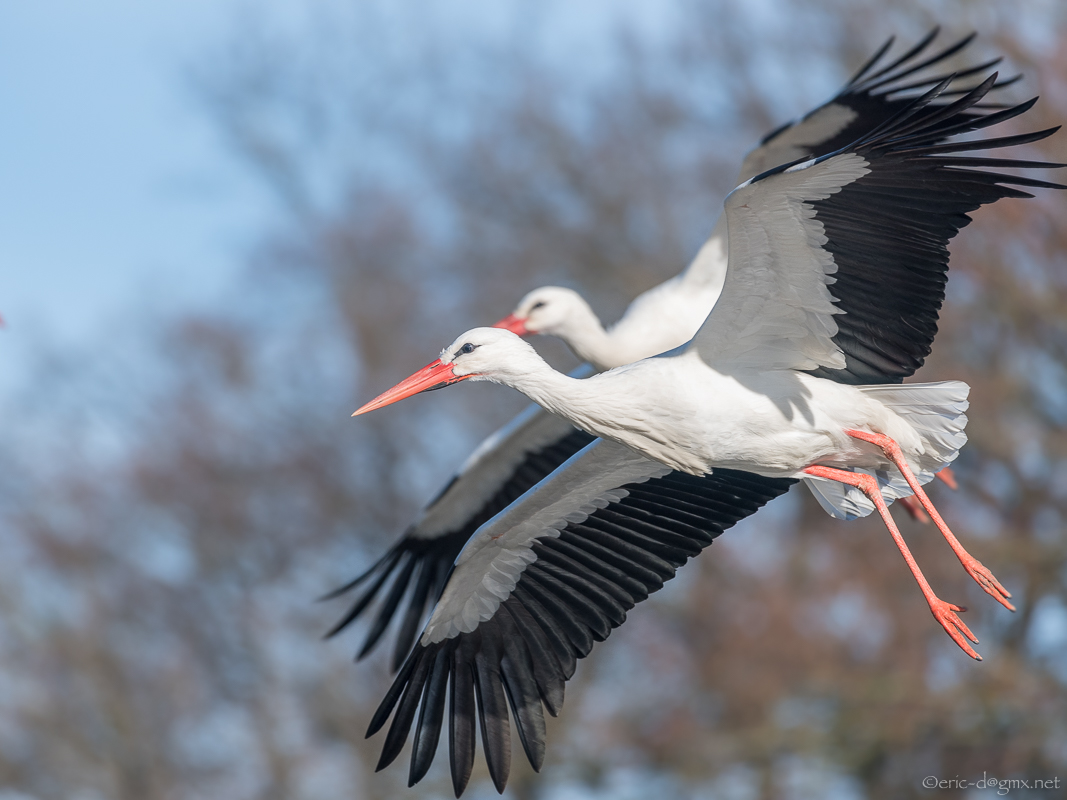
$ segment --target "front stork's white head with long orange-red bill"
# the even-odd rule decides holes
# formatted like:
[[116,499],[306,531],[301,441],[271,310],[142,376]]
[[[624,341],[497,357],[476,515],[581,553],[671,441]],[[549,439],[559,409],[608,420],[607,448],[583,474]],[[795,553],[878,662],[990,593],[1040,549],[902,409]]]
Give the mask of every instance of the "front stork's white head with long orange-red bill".
[[460,381],[508,383],[510,378],[523,375],[543,364],[534,348],[510,331],[475,327],[442,350],[441,357],[435,362],[379,395],[352,416]]

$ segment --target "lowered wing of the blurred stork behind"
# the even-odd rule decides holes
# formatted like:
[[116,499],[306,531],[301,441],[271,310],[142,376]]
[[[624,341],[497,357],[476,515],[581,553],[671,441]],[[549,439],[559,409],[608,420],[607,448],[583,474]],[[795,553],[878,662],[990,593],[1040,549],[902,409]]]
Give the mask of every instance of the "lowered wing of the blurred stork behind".
[[[529,406],[478,446],[384,556],[327,595],[337,597],[366,585],[327,636],[335,636],[373,609],[373,621],[357,656],[363,658],[381,641],[407,597],[407,607],[399,611],[401,622],[393,653],[393,669],[399,669],[472,534],[592,441],[593,436],[567,420]],[[375,605],[379,597],[381,602]]]

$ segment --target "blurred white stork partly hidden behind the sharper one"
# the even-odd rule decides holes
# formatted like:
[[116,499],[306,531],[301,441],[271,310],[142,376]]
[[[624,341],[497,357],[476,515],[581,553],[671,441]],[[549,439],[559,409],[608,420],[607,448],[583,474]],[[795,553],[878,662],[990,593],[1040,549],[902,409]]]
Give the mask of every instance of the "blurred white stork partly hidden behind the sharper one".
[[[893,44],[890,38],[833,99],[765,135],[745,158],[738,182],[798,158],[832,153],[907,107],[910,99],[902,97],[902,93],[949,78],[912,76],[962,50],[974,34],[926,54],[937,34],[935,28],[903,55],[879,67]],[[952,77],[958,80],[975,75],[999,61],[987,61]],[[908,78],[912,80],[909,82]],[[1005,86],[1014,80],[998,85]],[[959,91],[949,90],[941,97]],[[554,287],[530,292],[515,313],[497,325],[520,334],[559,336],[598,370],[670,350],[692,337],[719,297],[727,269],[726,237],[722,218],[684,272],[634,300],[622,319],[608,331],[580,295]],[[846,368],[827,370],[824,377],[844,383],[899,382],[922,365],[928,352],[927,347],[925,352],[917,351],[906,361],[872,363],[858,350],[846,349]],[[407,595],[408,605],[393,655],[394,669],[398,669],[411,650],[428,607],[440,596],[456,557],[475,530],[592,441],[591,435],[566,419],[537,406],[487,438],[381,559],[327,595],[335,597],[360,586],[367,587],[328,636],[347,627],[371,608],[376,597],[384,594],[359,652],[357,657],[363,658],[381,640]],[[907,502],[910,498],[902,499]],[[909,509],[909,513],[914,515],[917,509]],[[386,589],[391,577],[393,582]]]

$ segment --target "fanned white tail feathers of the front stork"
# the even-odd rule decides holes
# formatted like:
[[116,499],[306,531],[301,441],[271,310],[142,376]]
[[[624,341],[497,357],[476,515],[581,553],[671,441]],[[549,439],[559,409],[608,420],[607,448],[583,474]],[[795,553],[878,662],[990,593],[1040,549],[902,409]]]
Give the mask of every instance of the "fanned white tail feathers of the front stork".
[[[934,480],[949,466],[967,444],[967,396],[971,390],[962,381],[939,383],[887,384],[857,386],[907,421],[923,444],[922,453],[907,453],[908,464],[921,484]],[[904,476],[896,469],[859,469],[873,476],[887,502],[911,494]],[[874,503],[858,489],[829,480],[805,479],[815,499],[839,519],[855,519],[874,511]]]

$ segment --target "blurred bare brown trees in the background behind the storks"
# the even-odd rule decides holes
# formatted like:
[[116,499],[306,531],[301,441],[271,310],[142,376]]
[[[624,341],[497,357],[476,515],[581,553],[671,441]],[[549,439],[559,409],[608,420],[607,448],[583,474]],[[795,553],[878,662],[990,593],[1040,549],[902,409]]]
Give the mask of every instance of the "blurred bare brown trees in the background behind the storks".
[[[131,309],[125,347],[43,349],[3,398],[4,800],[449,797],[442,757],[414,789],[401,765],[373,773],[385,654],[353,665],[356,636],[321,641],[345,605],[314,598],[523,401],[477,385],[351,411],[536,286],[612,319],[692,256],[744,151],[890,34],[976,30],[967,60],[1004,54],[1025,76],[1010,97],[1041,95],[1016,129],[1067,121],[1054,0],[679,0],[607,47],[531,2],[477,32],[445,4],[313,7],[281,31],[250,6],[190,67],[273,201],[227,307]],[[1067,135],[1028,149],[1067,161]],[[931,527],[903,526],[986,660],[934,624],[879,522],[833,522],[794,491],[580,663],[543,773],[519,769],[510,797],[1067,781],[1067,201],[975,218],[919,378],[973,386],[961,489],[935,500],[1018,612]],[[468,794],[494,796],[480,756]]]

